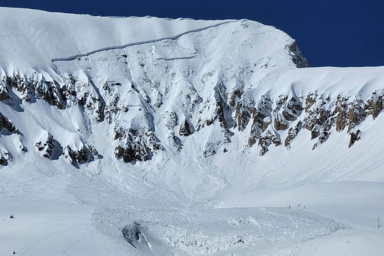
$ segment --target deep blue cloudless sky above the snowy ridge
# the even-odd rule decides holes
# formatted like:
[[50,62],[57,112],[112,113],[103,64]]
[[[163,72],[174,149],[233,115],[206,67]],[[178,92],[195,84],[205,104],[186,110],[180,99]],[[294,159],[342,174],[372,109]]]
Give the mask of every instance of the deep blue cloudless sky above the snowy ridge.
[[291,35],[312,66],[384,66],[379,0],[0,0],[0,6],[94,16],[247,18]]

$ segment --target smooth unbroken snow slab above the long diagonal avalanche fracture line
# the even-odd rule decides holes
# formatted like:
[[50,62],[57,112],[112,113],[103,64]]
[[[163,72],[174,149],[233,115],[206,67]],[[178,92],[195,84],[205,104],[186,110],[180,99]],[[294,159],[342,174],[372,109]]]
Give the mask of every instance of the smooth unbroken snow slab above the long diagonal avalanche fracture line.
[[[227,21],[110,18],[0,7],[0,66],[7,74],[54,76],[51,59],[172,38]],[[5,50],[6,49],[6,50]]]

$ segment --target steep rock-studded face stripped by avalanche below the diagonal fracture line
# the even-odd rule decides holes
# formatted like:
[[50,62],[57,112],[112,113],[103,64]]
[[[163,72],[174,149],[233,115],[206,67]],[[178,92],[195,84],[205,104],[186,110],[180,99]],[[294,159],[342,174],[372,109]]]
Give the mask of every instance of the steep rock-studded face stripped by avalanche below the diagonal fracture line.
[[[199,148],[208,157],[230,142],[243,92],[268,91],[281,70],[295,67],[293,44],[274,28],[239,21],[53,64],[65,90],[74,92],[66,107],[88,96],[81,102],[86,113],[110,124],[115,155],[124,162],[180,151],[181,140],[200,130]],[[249,97],[255,102],[258,95]]]

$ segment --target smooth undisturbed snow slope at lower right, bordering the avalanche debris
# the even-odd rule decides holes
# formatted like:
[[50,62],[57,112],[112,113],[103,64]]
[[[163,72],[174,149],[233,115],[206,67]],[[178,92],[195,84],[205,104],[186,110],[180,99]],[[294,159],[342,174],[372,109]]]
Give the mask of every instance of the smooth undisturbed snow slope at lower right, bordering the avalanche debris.
[[377,227],[378,216],[384,213],[381,204],[383,196],[382,182],[328,182],[237,195],[225,200],[223,206],[288,205],[327,216],[355,228],[296,244],[276,255],[381,255],[384,253],[384,232],[382,229],[377,230],[375,225]]

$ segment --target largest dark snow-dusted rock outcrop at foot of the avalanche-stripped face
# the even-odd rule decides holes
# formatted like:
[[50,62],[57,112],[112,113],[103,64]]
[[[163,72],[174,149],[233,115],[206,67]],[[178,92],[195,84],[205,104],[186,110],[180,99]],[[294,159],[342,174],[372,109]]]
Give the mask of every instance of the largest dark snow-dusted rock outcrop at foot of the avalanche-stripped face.
[[159,144],[159,140],[151,130],[129,129],[120,138],[120,143],[115,148],[115,157],[122,158],[125,163],[147,161],[158,150],[164,150],[164,148]]

